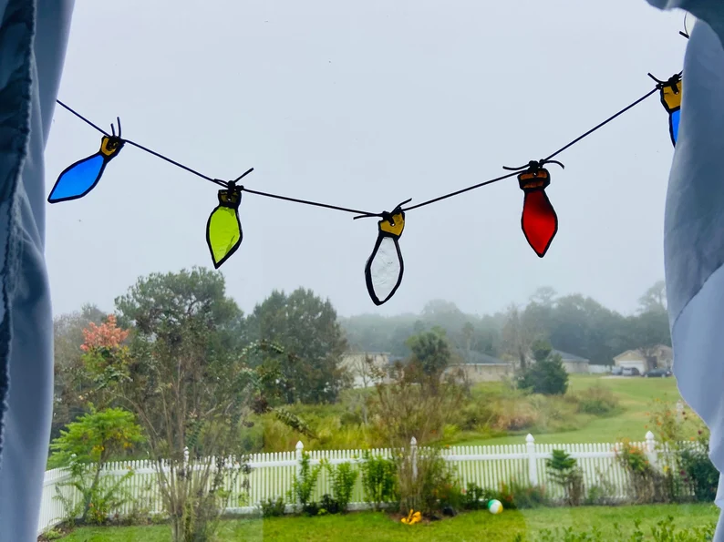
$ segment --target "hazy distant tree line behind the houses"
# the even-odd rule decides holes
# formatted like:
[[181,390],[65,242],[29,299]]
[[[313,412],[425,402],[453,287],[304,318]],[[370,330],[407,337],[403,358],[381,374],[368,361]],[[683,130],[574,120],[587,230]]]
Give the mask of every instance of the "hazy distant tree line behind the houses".
[[466,314],[453,302],[428,302],[419,314],[363,314],[341,319],[349,347],[359,352],[385,352],[408,358],[409,336],[444,329],[458,355],[484,353],[525,363],[537,340],[574,353],[592,363],[609,364],[619,353],[658,344],[671,345],[664,281],[657,281],[638,300],[638,310],[623,315],[580,293],[558,296],[539,288],[524,305],[511,304],[492,314]]

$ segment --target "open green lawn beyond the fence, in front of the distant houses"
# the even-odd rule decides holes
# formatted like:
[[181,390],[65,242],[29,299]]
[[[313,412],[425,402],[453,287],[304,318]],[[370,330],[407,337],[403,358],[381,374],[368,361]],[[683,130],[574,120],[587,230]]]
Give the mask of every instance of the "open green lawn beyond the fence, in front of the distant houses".
[[[620,412],[610,417],[598,418],[585,416],[586,422],[576,431],[566,431],[553,434],[535,434],[535,441],[542,444],[567,443],[612,443],[621,438],[630,438],[635,441],[644,440],[648,412],[654,399],[666,399],[676,402],[681,398],[678,393],[677,382],[670,378],[605,378],[602,376],[572,375],[570,389],[574,392],[584,392],[587,388],[600,383],[614,392],[620,401]],[[583,414],[582,414],[583,416]],[[456,445],[514,445],[525,442],[528,431],[512,435],[483,438],[466,435],[458,440]]]

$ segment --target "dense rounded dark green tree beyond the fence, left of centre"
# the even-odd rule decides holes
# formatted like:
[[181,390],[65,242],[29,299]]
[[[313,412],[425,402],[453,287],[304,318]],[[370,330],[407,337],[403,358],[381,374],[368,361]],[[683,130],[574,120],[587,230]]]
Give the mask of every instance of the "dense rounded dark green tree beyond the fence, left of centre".
[[278,343],[288,354],[282,367],[287,403],[333,402],[346,387],[339,364],[346,339],[329,300],[303,288],[289,295],[273,291],[254,307],[247,325],[253,340]]

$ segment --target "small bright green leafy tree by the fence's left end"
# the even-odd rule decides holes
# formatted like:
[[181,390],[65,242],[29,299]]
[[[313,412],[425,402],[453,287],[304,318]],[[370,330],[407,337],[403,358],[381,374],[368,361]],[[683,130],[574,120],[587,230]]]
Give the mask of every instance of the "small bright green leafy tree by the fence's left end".
[[122,408],[97,411],[89,404],[88,409],[88,414],[67,424],[67,430],[61,430],[53,440],[49,465],[69,465],[70,485],[83,496],[79,509],[71,516],[80,515],[81,522],[88,522],[89,517],[102,522],[120,503],[115,495],[118,484],[104,485],[101,471],[111,458],[126,454],[143,442],[143,435],[136,417]]

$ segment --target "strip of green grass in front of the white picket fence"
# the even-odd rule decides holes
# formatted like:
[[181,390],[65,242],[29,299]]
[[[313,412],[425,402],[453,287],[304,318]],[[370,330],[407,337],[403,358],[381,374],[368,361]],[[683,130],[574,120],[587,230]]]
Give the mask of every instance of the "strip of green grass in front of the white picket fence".
[[[427,525],[405,526],[384,514],[363,512],[346,516],[278,517],[264,520],[229,520],[222,523],[220,541],[275,542],[351,540],[405,541],[429,540],[472,542],[495,540],[510,542],[517,534],[529,537],[541,529],[574,527],[589,530],[599,527],[613,537],[614,523],[626,534],[634,528],[634,520],[642,520],[642,530],[666,516],[675,517],[678,528],[702,526],[716,522],[719,509],[712,505],[658,506],[584,506],[578,508],[539,508],[505,511],[499,516],[488,512],[471,512]],[[613,539],[613,538],[610,538]],[[651,539],[647,537],[646,539]],[[84,527],[62,538],[64,542],[168,542],[168,526],[153,527]]]

